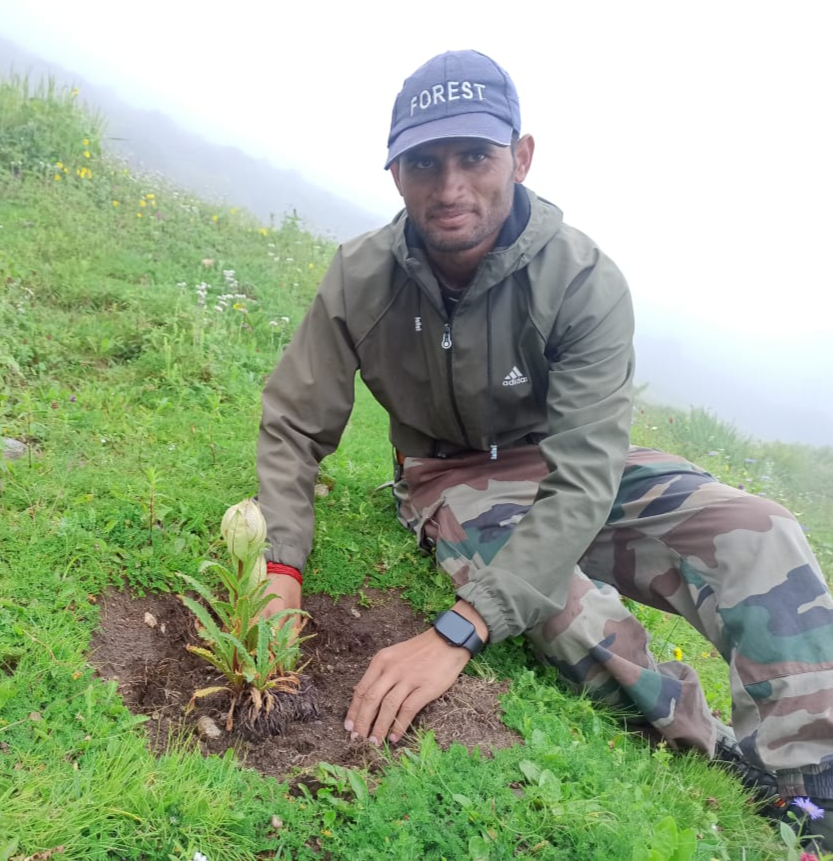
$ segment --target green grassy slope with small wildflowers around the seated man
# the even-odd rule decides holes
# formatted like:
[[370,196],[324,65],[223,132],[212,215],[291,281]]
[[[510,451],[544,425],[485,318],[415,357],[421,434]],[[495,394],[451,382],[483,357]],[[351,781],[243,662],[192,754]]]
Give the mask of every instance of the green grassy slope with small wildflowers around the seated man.
[[[0,82],[0,430],[30,446],[0,467],[0,859],[58,846],[83,859],[641,859],[669,817],[699,835],[698,859],[783,856],[734,781],[631,738],[520,641],[476,662],[512,679],[505,719],[526,740],[493,760],[428,735],[381,775],[322,767],[323,788],[296,798],[187,739],[148,750],[141,719],[86,663],[97,596],[176,590],[176,572],[199,576],[219,553],[223,511],[256,490],[264,376],[333,248],[292,219],[261,225],[131,174],[101,156],[101,123],[71,93],[26,86]],[[228,293],[246,298],[214,310]],[[714,461],[724,480],[801,510],[830,576],[831,500],[803,481],[831,475],[828,450],[645,410],[637,442]],[[396,524],[390,491],[374,490],[390,451],[362,387],[323,472],[307,589],[398,587],[419,609],[447,606],[447,578]],[[725,710],[711,647],[638,612],[658,654],[681,648]]]

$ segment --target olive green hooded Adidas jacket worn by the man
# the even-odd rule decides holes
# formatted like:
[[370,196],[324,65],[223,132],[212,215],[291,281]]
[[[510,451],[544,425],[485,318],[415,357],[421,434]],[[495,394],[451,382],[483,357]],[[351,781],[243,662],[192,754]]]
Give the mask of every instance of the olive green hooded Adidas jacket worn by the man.
[[599,248],[526,191],[526,227],[483,259],[451,317],[400,213],[339,248],[263,393],[258,499],[267,559],[303,568],[319,461],[338,446],[356,371],[404,455],[535,442],[551,469],[491,565],[458,591],[497,642],[566,603],[628,449],[633,312]]

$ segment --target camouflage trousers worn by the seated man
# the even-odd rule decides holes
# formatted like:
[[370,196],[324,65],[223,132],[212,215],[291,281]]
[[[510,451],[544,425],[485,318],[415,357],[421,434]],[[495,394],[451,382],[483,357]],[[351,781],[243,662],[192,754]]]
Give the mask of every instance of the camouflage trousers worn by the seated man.
[[[497,461],[406,458],[394,484],[399,519],[454,577],[491,562],[545,473],[535,446]],[[833,599],[788,511],[682,458],[631,448],[567,605],[526,632],[561,677],[636,709],[669,744],[711,756],[717,725],[697,673],[655,660],[621,595],[684,616],[720,651],[750,762],[776,772],[785,795],[833,798]]]

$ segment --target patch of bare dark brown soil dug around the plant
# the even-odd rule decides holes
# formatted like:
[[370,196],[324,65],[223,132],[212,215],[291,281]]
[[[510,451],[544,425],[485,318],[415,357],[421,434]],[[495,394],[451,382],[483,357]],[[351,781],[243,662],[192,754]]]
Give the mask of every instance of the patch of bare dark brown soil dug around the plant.
[[[304,634],[315,634],[304,646],[309,659],[304,672],[318,690],[320,713],[265,740],[253,741],[236,731],[209,740],[195,732],[202,716],[223,728],[228,700],[223,695],[206,698],[185,716],[193,692],[221,683],[221,677],[186,651],[186,645],[200,640],[193,616],[171,595],[134,598],[108,592],[102,599],[101,627],[93,638],[90,660],[102,677],[118,680],[131,710],[150,717],[148,734],[159,752],[165,750],[172,731],[185,730],[199,738],[204,753],[234,747],[249,767],[278,778],[322,761],[371,766],[380,761],[378,751],[366,741],[351,742],[343,727],[353,689],[379,649],[415,636],[425,623],[395,593],[367,589],[364,596],[361,605],[352,596],[304,599],[304,609],[312,616]],[[434,730],[443,747],[454,741],[485,753],[508,747],[519,739],[499,719],[497,697],[507,688],[508,683],[461,676],[445,696],[423,710],[417,724]],[[406,736],[401,744],[412,742]]]

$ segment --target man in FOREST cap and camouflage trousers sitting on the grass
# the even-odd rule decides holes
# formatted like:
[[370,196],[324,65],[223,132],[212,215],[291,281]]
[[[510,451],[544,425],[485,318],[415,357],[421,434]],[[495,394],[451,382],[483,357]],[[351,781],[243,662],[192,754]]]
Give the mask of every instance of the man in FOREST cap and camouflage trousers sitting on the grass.
[[[833,838],[833,601],[802,530],[629,448],[628,288],[523,186],[534,142],[503,69],[433,58],[405,81],[388,143],[405,211],[339,249],[267,383],[258,451],[275,607],[300,606],[318,463],[360,370],[390,414],[399,518],[458,587],[450,613],[373,659],[345,729],[396,742],[483,644],[525,632],[671,745],[775,772],[786,797],[826,807],[813,825]],[[740,748],[694,671],[657,665],[619,593],[720,649]]]

